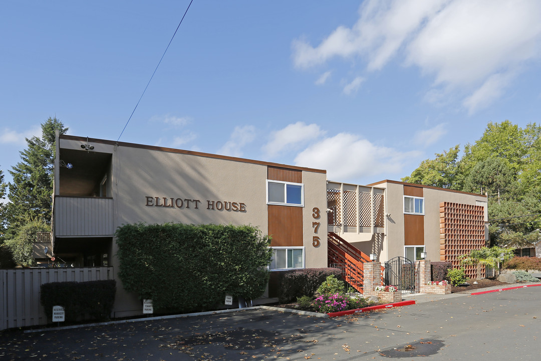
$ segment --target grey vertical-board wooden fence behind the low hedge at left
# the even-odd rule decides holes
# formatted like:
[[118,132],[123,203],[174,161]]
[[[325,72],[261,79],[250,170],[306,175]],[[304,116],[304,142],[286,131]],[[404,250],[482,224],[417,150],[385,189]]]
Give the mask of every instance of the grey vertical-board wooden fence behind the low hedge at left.
[[45,283],[114,279],[113,267],[24,268],[0,270],[0,276],[0,330],[47,324],[39,301]]

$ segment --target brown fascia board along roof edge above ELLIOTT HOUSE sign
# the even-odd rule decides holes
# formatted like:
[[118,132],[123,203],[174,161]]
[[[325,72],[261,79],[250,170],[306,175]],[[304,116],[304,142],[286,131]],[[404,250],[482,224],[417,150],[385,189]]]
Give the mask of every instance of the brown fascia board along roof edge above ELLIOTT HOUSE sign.
[[60,135],[60,139],[75,140],[75,141],[81,141],[81,142],[85,142],[85,143],[88,141],[88,142],[93,142],[93,143],[109,144],[109,145],[113,145],[113,146],[117,145],[119,147],[131,147],[131,148],[141,148],[141,149],[149,149],[149,150],[159,150],[160,152],[189,154],[189,155],[203,156],[203,157],[207,157],[207,158],[223,159],[223,160],[230,160],[230,161],[243,162],[243,163],[252,163],[252,164],[258,164],[258,165],[262,165],[262,166],[271,166],[271,167],[279,167],[279,168],[294,169],[294,170],[305,170],[306,172],[313,172],[313,173],[323,173],[323,174],[327,173],[327,170],[325,170],[325,169],[315,169],[315,168],[288,166],[288,165],[280,164],[280,163],[263,162],[263,161],[259,161],[259,160],[238,158],[238,157],[232,157],[232,156],[227,156],[227,155],[194,152],[193,150],[183,150],[183,149],[175,149],[175,148],[147,146],[147,145],[136,144],[136,143],[115,142],[114,140],[105,140],[105,139],[96,139],[96,138],[88,138],[88,140],[87,140],[87,137],[75,136],[75,135],[66,135],[66,134]]

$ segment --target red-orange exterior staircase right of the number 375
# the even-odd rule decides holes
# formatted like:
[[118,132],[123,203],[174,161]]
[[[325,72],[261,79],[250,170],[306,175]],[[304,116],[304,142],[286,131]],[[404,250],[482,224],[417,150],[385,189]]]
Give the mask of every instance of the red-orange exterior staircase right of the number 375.
[[363,264],[371,262],[370,257],[334,232],[327,233],[327,248],[328,266],[340,268],[344,280],[363,293]]

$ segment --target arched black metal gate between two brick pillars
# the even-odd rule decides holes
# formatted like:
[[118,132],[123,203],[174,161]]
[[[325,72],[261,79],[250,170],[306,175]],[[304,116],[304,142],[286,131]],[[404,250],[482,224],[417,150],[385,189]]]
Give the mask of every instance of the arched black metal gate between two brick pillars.
[[384,285],[395,286],[402,293],[415,293],[419,283],[418,270],[419,261],[410,261],[405,257],[392,258],[385,262]]

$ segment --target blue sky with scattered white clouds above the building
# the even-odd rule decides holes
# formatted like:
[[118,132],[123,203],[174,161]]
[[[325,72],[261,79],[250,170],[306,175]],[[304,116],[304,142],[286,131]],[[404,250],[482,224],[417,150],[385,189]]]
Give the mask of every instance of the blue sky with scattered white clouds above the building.
[[[189,1],[10,1],[0,169],[56,116],[117,140]],[[541,2],[194,0],[120,141],[399,180],[541,113]]]

